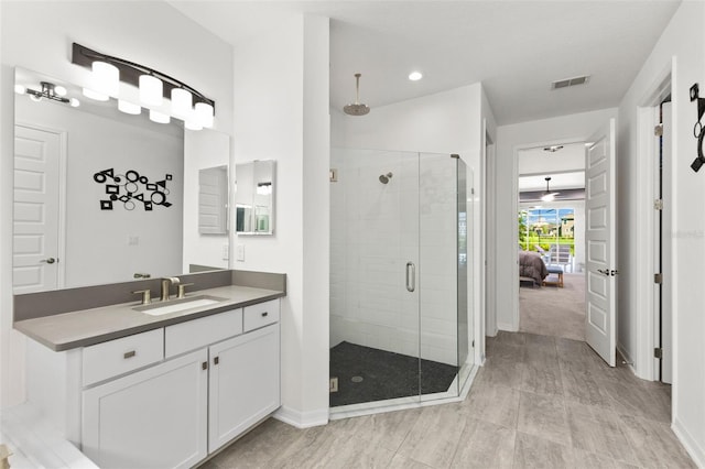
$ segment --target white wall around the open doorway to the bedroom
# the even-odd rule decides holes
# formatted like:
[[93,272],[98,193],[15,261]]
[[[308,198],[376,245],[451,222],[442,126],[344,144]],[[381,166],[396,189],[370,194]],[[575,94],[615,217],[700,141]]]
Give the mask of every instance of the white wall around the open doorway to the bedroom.
[[[552,119],[500,126],[497,128],[497,159],[495,215],[496,249],[488,255],[496,272],[495,315],[502,330],[517,330],[513,314],[519,307],[519,284],[502,282],[510,273],[519,277],[517,265],[517,167],[514,153],[520,148],[539,146],[553,142],[586,141],[600,124],[615,117],[617,109],[581,112]],[[513,190],[510,190],[514,187]],[[489,312],[492,314],[492,312]]]

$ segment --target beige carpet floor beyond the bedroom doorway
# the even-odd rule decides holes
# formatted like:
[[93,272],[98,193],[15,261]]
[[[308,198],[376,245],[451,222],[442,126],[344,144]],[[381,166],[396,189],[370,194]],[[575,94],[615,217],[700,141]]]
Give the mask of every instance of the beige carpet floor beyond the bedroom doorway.
[[521,332],[585,340],[585,274],[563,274],[563,287],[519,288]]

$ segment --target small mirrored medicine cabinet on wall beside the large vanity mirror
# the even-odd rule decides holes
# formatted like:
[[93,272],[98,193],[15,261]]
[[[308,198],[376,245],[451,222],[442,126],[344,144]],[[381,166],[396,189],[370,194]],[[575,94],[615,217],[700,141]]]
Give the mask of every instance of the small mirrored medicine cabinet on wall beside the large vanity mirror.
[[273,160],[253,161],[235,166],[238,234],[274,233],[275,167]]

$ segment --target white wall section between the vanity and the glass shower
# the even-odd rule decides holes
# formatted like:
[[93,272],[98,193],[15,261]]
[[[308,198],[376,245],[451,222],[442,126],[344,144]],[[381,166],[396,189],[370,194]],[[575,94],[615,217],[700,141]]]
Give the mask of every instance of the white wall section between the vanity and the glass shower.
[[328,20],[272,30],[235,47],[234,157],[276,161],[274,236],[237,236],[234,266],[286,273],[278,415],[311,426],[328,417]]

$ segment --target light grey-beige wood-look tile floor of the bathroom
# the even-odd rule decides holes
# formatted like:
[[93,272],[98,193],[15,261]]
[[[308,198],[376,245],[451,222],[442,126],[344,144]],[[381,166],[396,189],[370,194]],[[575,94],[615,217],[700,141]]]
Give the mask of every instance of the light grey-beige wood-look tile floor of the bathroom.
[[462,403],[307,429],[270,418],[203,468],[695,467],[669,427],[670,386],[558,337],[500,332],[487,356]]

